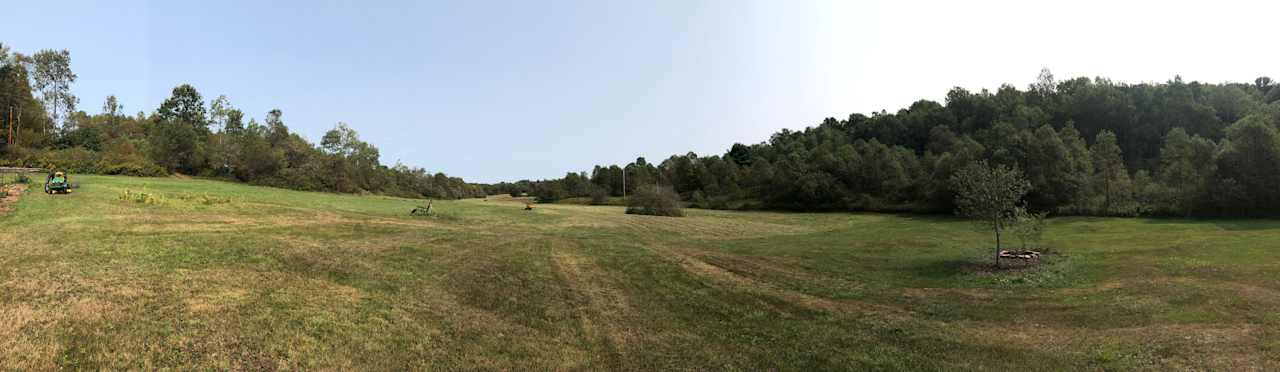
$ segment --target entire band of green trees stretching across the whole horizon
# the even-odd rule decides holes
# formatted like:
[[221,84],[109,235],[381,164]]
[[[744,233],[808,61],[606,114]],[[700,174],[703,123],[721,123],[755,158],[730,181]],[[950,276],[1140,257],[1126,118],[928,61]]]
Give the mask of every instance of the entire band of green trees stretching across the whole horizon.
[[723,155],[495,184],[383,165],[343,123],[312,143],[289,132],[280,110],[246,120],[227,96],[206,102],[188,84],[150,114],[125,115],[109,96],[90,115],[70,95],[76,79],[67,50],[27,56],[0,43],[0,164],[419,198],[603,201],[658,184],[701,208],[951,212],[951,176],[988,161],[1021,171],[1024,205],[1055,215],[1280,215],[1280,88],[1267,77],[1128,84],[1059,82],[1044,69],[1025,89],[956,87],[941,104],[827,118]]

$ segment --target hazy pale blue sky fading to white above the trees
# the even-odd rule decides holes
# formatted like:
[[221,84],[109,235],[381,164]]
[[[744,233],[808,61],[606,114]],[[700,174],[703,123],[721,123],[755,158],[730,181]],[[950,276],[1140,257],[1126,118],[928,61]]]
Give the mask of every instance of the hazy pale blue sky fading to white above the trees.
[[[10,3],[10,1],[6,1]],[[12,1],[0,42],[67,49],[81,110],[173,87],[338,121],[468,182],[723,153],[951,87],[1280,78],[1280,1]]]

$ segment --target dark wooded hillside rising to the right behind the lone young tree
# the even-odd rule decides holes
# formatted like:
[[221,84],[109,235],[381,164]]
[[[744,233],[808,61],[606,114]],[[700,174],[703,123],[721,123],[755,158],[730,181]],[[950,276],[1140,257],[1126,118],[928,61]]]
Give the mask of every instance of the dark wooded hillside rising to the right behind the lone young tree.
[[[1029,208],[1057,215],[1280,215],[1280,88],[1252,83],[1055,81],[954,88],[897,112],[828,118],[724,155],[643,157],[562,179],[488,185],[543,201],[657,184],[704,208],[950,212],[951,175],[1020,169]],[[626,190],[622,176],[626,171]]]

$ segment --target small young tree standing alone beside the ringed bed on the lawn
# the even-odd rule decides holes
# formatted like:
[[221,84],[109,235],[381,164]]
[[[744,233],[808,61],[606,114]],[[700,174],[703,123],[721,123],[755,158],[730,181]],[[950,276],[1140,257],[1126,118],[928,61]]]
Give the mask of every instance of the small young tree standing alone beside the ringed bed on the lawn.
[[1000,265],[1000,234],[1016,217],[1018,201],[1032,185],[1023,171],[1004,165],[991,166],[978,161],[951,176],[956,190],[956,212],[977,220],[996,234],[996,265]]

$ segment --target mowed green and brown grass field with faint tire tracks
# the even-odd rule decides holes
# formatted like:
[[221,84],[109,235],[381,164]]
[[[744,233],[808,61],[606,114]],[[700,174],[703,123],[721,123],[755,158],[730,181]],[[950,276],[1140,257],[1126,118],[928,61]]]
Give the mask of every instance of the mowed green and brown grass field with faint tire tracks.
[[1053,219],[988,272],[947,217],[74,180],[0,216],[0,368],[1280,368],[1280,221]]

